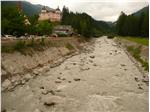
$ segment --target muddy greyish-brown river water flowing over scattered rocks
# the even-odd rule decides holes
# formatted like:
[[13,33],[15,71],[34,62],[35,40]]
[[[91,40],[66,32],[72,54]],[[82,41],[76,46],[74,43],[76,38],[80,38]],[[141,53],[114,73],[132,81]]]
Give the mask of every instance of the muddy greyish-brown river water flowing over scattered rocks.
[[[101,37],[60,66],[2,93],[6,112],[148,112],[148,86],[123,49]],[[47,65],[48,66],[48,65]]]

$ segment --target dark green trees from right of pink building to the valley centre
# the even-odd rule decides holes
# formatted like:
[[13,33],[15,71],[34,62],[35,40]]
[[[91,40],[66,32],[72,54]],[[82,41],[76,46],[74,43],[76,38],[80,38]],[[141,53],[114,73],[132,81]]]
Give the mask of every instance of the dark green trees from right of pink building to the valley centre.
[[71,25],[74,30],[84,37],[101,36],[111,31],[106,22],[96,21],[86,13],[73,13],[67,7],[63,7],[63,25]]

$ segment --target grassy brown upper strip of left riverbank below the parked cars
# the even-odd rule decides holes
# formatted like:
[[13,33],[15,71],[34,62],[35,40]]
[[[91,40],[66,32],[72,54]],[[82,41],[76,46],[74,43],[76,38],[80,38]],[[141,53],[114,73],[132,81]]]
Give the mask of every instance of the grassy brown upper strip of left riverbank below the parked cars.
[[[66,47],[69,50],[73,50],[72,44],[81,43],[83,40],[74,37],[65,38],[32,38],[29,40],[13,40],[2,41],[1,51],[2,53],[13,53],[15,51],[26,54],[29,51],[43,51],[49,47]],[[78,45],[78,44],[77,44]]]

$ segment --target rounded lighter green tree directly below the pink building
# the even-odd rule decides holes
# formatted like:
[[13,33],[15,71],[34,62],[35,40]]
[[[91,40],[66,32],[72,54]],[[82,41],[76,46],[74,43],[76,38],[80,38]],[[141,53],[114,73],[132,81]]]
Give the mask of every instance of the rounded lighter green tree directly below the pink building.
[[50,21],[40,21],[36,25],[36,32],[38,35],[50,35],[52,33],[53,26]]

